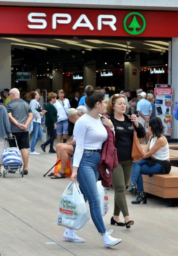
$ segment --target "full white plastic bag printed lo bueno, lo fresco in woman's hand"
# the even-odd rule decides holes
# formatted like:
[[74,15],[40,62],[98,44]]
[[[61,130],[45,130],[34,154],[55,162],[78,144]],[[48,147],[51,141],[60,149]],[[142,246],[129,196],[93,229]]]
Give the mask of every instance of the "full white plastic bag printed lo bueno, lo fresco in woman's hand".
[[64,190],[57,213],[60,226],[79,230],[88,223],[90,216],[77,183],[71,182]]

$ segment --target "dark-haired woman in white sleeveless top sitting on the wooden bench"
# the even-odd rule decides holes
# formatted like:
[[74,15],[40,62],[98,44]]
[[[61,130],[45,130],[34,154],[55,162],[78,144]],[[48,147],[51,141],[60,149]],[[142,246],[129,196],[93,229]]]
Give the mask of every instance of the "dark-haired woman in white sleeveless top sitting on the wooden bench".
[[128,192],[138,191],[138,196],[136,200],[132,201],[132,204],[139,204],[141,201],[147,203],[141,174],[149,176],[152,174],[166,174],[170,173],[171,170],[169,146],[167,139],[162,135],[164,127],[161,119],[159,117],[152,118],[147,128],[151,137],[143,150],[143,159],[133,163],[130,184],[128,189],[126,189]]

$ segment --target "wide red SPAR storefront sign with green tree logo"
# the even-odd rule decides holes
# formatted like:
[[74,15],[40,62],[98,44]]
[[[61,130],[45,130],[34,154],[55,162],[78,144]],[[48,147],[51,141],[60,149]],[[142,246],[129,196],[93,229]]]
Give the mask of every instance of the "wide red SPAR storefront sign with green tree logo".
[[171,38],[177,23],[177,11],[0,7],[1,35]]

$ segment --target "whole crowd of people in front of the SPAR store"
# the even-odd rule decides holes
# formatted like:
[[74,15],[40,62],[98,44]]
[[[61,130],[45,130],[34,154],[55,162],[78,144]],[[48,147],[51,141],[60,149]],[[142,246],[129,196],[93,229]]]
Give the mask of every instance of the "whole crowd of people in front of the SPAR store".
[[[20,99],[18,89],[13,88],[8,91],[8,94],[6,92],[4,93],[4,98],[8,101],[6,108],[0,105],[2,120],[0,123],[0,153],[4,150],[5,138],[12,138],[12,135],[15,135],[22,153],[23,172],[28,174],[29,125],[31,124],[33,127],[30,154],[40,155],[35,151],[35,145],[42,137],[41,121],[45,115],[45,125],[50,136],[45,143],[41,144],[41,149],[46,152],[46,147],[50,144],[49,153],[57,153],[57,157],[61,159],[61,170],[57,174],[51,173],[49,176],[52,179],[65,178],[65,166],[68,155],[71,155],[71,181],[79,182],[84,199],[88,200],[92,221],[103,237],[104,246],[107,248],[120,243],[122,241],[120,238],[110,236],[112,230],[106,230],[101,215],[96,182],[99,178],[98,164],[102,154],[102,145],[109,138],[108,129],[114,132],[118,166],[113,169],[114,212],[110,223],[111,225],[125,226],[128,229],[134,224],[134,221],[129,215],[125,190],[138,192],[137,198],[132,201],[132,204],[139,204],[142,201],[146,203],[147,198],[141,174],[165,174],[169,173],[171,169],[168,142],[163,136],[163,124],[160,118],[154,117],[154,95],[146,94],[139,89],[136,91],[137,98],[128,102],[127,97],[130,95],[130,90],[124,89],[123,94],[114,94],[106,100],[105,90],[99,88],[94,90],[92,86],[86,86],[82,101],[81,99],[79,101],[80,95],[76,92],[71,105],[65,98],[63,90],[58,90],[57,94],[49,93],[48,103],[43,110],[39,104],[39,89],[29,93],[29,104]],[[75,108],[71,108],[71,106],[75,106]],[[126,115],[128,109],[132,110],[134,114]],[[109,114],[109,118],[106,117],[106,112]],[[67,142],[69,121],[74,123],[75,127],[73,135]],[[138,162],[132,162],[131,157],[134,129],[141,139],[144,138],[146,131],[148,140],[143,159]],[[53,148],[56,136],[59,141],[56,146],[57,152]],[[61,143],[62,136],[63,143]],[[14,141],[10,142],[10,146],[15,146]],[[0,167],[1,165],[0,158]],[[129,180],[129,187],[126,189]],[[121,212],[124,222],[120,217]],[[66,228],[63,238],[73,242],[84,242],[83,238],[76,235],[75,230],[68,228]]]

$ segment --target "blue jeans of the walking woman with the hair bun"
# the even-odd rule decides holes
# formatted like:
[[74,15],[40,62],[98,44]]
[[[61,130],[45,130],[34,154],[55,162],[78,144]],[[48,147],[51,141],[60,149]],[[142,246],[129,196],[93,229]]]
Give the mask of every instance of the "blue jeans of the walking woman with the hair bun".
[[[85,201],[88,200],[90,206],[90,214],[92,221],[100,234],[105,234],[106,228],[103,222],[100,197],[97,189],[96,182],[98,181],[98,163],[101,153],[84,150],[80,165],[77,171],[77,181],[79,187],[84,195]],[[73,157],[71,166],[73,164]]]

